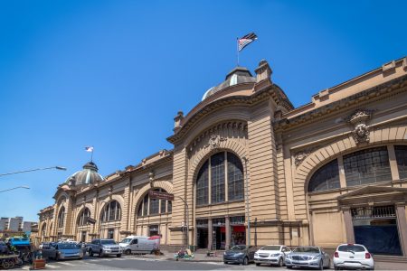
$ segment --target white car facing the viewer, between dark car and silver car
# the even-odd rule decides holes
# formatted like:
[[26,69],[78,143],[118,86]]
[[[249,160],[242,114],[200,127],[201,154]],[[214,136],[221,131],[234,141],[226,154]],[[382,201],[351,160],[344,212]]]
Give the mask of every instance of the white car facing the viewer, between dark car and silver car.
[[256,263],[256,266],[268,264],[281,267],[284,265],[286,254],[289,252],[291,252],[291,249],[286,246],[268,245],[256,251],[254,263]]

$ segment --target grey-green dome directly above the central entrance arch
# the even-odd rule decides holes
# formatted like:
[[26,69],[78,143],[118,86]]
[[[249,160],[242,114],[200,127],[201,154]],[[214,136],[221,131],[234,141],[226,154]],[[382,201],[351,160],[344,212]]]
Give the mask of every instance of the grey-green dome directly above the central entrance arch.
[[221,84],[219,84],[216,87],[206,90],[202,100],[213,95],[213,93],[216,93],[222,89],[226,89],[227,87],[231,87],[231,86],[238,85],[241,83],[248,83],[248,82],[254,83],[254,82],[256,82],[256,78],[251,76],[250,70],[247,70],[247,68],[238,66],[238,67],[234,68],[231,72],[229,72],[228,75],[226,75],[226,79]]

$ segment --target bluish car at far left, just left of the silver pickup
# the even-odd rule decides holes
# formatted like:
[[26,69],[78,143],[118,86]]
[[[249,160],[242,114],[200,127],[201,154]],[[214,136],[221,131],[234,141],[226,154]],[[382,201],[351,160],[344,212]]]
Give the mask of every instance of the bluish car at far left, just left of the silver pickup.
[[44,243],[43,257],[53,258],[55,260],[68,258],[83,258],[83,251],[80,246],[73,243]]

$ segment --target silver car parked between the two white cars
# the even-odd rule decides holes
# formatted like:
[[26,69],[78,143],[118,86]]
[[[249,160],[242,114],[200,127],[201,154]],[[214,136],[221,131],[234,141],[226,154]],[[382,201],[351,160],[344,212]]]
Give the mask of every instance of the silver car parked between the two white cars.
[[331,258],[322,248],[298,247],[287,255],[285,264],[288,268],[298,266],[322,270],[331,266]]

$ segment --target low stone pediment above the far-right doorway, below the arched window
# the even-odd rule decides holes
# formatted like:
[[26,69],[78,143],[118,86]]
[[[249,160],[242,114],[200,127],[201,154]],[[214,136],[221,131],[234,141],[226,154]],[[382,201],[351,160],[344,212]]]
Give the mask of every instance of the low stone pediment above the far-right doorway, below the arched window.
[[343,195],[338,196],[336,199],[338,201],[345,201],[348,199],[355,199],[357,197],[366,197],[366,196],[380,196],[388,194],[397,194],[407,196],[407,188],[402,187],[389,187],[381,185],[368,185],[359,189],[356,189],[353,192],[347,192]]

